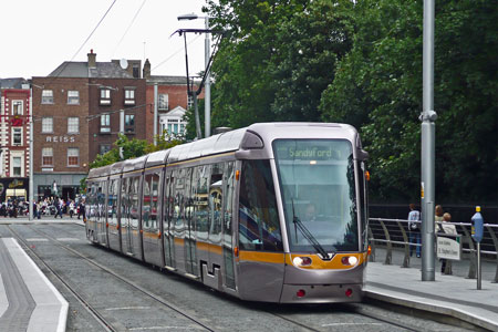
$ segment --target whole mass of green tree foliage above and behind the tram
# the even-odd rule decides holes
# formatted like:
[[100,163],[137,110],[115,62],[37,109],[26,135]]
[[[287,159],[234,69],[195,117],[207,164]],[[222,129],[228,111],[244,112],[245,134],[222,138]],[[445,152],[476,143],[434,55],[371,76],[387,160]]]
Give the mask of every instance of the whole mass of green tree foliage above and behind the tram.
[[[372,198],[418,199],[422,0],[212,0],[205,11],[229,31],[212,66],[214,127],[350,123],[371,154]],[[436,199],[496,203],[498,6],[436,1],[435,24]]]

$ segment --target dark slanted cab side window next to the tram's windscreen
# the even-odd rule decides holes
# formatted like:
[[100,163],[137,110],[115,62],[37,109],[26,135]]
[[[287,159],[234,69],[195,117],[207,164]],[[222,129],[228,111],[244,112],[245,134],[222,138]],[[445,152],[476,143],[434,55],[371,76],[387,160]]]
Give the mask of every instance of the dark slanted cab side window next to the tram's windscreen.
[[269,160],[242,163],[239,246],[242,250],[283,250]]

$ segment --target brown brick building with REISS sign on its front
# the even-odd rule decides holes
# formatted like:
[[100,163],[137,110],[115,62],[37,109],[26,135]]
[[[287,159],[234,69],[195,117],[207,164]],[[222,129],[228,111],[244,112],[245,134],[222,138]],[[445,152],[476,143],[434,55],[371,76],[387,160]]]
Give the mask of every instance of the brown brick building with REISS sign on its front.
[[112,148],[125,111],[125,133],[146,138],[145,80],[141,61],[64,62],[33,77],[34,190],[38,198],[74,198],[97,154]]

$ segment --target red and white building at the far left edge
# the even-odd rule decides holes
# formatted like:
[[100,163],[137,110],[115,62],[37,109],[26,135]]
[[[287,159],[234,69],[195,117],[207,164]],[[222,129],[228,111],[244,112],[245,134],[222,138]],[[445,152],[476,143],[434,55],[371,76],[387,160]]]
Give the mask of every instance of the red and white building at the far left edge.
[[31,92],[24,79],[0,80],[0,201],[28,197]]

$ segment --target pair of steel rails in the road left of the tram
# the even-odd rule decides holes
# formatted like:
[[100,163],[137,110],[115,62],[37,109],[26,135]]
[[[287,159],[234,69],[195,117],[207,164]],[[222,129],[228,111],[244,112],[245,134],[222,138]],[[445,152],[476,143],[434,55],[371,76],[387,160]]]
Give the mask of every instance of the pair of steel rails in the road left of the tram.
[[[148,290],[144,289],[143,287],[138,286],[137,283],[133,282],[132,280],[116,273],[115,271],[113,271],[112,269],[102,266],[101,263],[98,263],[97,261],[77,252],[76,250],[72,249],[71,247],[62,243],[61,241],[59,241],[58,239],[53,238],[52,236],[48,235],[44,231],[34,229],[32,226],[30,225],[25,225],[30,230],[37,232],[40,236],[43,236],[48,239],[50,239],[53,243],[55,243],[58,247],[71,252],[74,256],[80,257],[81,259],[83,259],[84,261],[86,261],[87,263],[101,269],[102,271],[111,274],[112,277],[118,279],[120,281],[126,283],[127,286],[132,287],[133,289],[137,290],[138,292],[145,294],[146,297],[153,299],[154,301],[160,303],[162,305],[166,307],[167,309],[178,313],[179,315],[184,317],[185,319],[189,320],[190,322],[195,323],[196,325],[203,328],[206,331],[216,331],[214,328],[208,326],[206,323],[201,322],[198,318],[195,318],[193,315],[189,315],[187,313],[185,313],[181,309],[179,309],[178,307],[176,307],[175,304],[170,303],[169,301],[163,299],[162,297],[154,294],[152,292],[149,292]],[[30,253],[32,253],[62,284],[64,284],[64,287],[71,292],[71,294],[83,305],[83,308],[85,308],[91,315],[106,330],[106,331],[120,331],[116,328],[114,328],[112,325],[112,323],[106,320],[104,318],[104,315],[95,308],[95,305],[91,304],[89,301],[86,301],[84,299],[84,297],[81,294],[81,292],[79,292],[74,287],[72,287],[69,282],[66,282],[66,280],[64,280],[64,278],[58,273],[40,255],[38,255],[28,243],[28,241],[25,241],[14,229],[12,229],[12,227],[7,226],[7,228],[9,229],[9,231],[20,241],[24,245],[24,247],[27,248],[27,250],[29,250]]]

